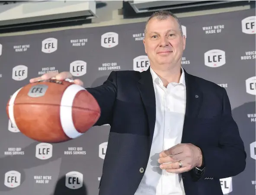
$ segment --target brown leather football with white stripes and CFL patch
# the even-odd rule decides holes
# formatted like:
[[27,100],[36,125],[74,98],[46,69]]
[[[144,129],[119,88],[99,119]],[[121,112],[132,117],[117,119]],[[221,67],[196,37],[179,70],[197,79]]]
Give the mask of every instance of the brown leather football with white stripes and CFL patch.
[[20,132],[40,142],[58,143],[79,137],[99,119],[96,99],[72,81],[41,80],[17,90],[7,115]]

